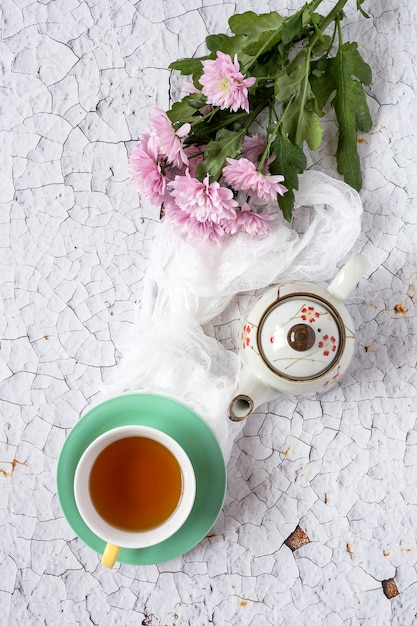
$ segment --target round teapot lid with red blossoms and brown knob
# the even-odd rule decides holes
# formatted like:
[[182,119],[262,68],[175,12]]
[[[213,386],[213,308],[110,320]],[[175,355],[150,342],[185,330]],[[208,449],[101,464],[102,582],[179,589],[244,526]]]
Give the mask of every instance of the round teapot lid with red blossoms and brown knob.
[[258,346],[266,364],[289,380],[322,376],[339,361],[345,327],[334,306],[312,294],[289,294],[263,314]]

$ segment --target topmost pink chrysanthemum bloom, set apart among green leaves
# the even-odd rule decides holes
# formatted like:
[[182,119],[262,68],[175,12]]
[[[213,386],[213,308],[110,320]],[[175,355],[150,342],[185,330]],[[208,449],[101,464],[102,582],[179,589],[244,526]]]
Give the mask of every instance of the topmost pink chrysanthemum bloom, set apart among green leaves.
[[228,54],[218,51],[217,59],[201,63],[203,74],[199,80],[208,104],[232,111],[244,109],[249,113],[248,88],[255,84],[256,78],[243,76],[237,55],[232,61]]

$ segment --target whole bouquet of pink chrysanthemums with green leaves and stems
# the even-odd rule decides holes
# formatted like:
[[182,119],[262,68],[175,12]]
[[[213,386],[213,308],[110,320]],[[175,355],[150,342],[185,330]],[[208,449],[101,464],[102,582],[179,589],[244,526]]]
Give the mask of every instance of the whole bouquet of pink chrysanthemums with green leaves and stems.
[[[363,1],[357,9],[368,17]],[[357,131],[371,128],[363,85],[372,74],[357,44],[343,42],[346,2],[325,16],[317,12],[321,0],[289,17],[233,15],[230,34],[207,37],[206,56],[170,65],[188,78],[184,97],[151,112],[130,163],[140,194],[179,232],[215,241],[262,236],[278,207],[291,221],[305,144],[320,147],[329,103],[339,127],[338,171],[359,191]]]

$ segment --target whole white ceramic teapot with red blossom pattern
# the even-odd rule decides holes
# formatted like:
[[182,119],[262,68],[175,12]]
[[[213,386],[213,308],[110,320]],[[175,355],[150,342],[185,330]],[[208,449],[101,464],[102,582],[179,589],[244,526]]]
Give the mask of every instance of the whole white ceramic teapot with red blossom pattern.
[[242,369],[228,417],[240,422],[279,395],[327,391],[346,371],[355,330],[344,301],[368,267],[355,254],[326,288],[307,281],[276,285],[241,321]]

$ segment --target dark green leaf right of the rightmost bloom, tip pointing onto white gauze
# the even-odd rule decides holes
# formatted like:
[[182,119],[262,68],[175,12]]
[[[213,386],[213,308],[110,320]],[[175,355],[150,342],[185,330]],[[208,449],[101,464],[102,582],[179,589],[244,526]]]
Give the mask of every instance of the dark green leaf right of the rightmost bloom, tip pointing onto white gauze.
[[286,137],[277,135],[271,149],[275,153],[275,160],[270,164],[271,174],[284,176],[284,185],[288,191],[283,196],[277,196],[280,209],[287,221],[291,221],[294,208],[294,189],[298,189],[298,174],[307,167],[306,156],[296,144]]

